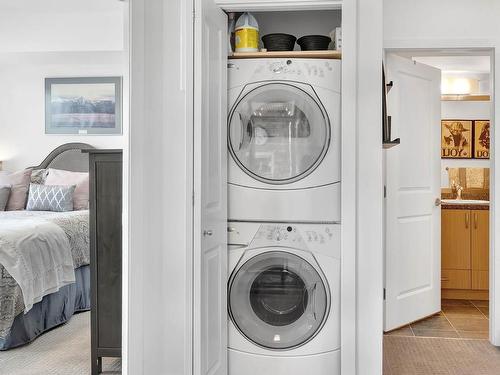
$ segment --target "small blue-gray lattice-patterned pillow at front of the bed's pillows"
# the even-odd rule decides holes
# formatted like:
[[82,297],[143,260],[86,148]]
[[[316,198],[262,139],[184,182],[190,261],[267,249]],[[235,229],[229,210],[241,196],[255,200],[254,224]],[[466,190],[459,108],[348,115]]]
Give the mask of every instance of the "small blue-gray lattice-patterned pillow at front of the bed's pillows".
[[57,186],[31,184],[28,198],[28,211],[73,211],[75,185]]

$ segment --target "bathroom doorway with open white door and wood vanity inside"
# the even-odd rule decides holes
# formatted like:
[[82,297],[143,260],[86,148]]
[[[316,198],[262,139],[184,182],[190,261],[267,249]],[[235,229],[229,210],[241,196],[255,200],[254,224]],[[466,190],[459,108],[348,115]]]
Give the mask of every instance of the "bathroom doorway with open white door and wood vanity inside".
[[[446,348],[457,354],[453,349],[465,340],[477,340],[473,345],[484,346],[485,355],[493,348],[488,343],[491,53],[404,50],[386,55],[389,123],[392,137],[401,138],[384,155],[387,374],[402,365],[418,371],[425,364],[429,373],[437,371],[446,361],[433,362],[430,353]],[[412,349],[420,350],[420,364],[396,355],[395,345],[408,346],[413,354]],[[466,361],[467,354],[453,360]]]

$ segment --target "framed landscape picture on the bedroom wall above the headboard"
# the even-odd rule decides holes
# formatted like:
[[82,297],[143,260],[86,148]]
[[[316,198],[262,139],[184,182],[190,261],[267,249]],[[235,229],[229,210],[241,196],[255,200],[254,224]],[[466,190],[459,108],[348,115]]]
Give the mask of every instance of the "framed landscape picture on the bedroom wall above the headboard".
[[122,134],[122,78],[46,78],[45,134]]

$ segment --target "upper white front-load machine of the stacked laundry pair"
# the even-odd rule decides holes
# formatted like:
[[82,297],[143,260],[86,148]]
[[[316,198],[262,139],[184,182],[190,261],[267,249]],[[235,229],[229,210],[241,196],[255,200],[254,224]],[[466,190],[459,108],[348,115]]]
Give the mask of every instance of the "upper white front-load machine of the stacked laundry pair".
[[341,62],[230,59],[229,220],[340,221]]

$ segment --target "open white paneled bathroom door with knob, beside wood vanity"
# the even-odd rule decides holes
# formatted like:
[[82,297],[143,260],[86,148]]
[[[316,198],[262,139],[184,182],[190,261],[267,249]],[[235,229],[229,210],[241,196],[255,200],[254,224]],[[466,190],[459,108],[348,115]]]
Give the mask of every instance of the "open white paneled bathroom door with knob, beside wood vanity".
[[441,310],[441,71],[386,62],[393,138],[386,154],[385,331]]

